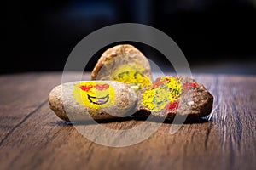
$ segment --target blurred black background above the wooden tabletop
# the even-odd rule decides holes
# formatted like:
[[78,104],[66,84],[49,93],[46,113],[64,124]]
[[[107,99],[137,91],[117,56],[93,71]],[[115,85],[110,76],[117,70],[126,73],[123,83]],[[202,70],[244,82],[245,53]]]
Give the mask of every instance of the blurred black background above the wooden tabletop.
[[[256,74],[256,0],[14,0],[5,10],[1,74],[62,71],[81,39],[124,22],[164,31],[177,42],[192,71]],[[149,59],[165,63],[154,49],[133,44]]]

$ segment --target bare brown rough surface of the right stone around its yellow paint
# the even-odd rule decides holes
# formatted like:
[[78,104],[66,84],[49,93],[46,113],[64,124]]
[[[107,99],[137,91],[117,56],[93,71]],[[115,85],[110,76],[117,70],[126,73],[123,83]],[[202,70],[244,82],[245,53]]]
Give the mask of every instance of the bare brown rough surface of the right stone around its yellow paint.
[[[183,90],[180,98],[177,99],[178,108],[166,111],[165,109],[161,111],[150,111],[147,107],[142,105],[143,93],[138,94],[138,104],[137,104],[137,116],[147,115],[150,113],[152,116],[165,117],[166,119],[173,120],[174,116],[188,116],[187,120],[196,120],[200,117],[207,116],[212,111],[213,96],[207,89],[199,82],[195,82],[194,79],[189,77],[177,77],[180,79],[181,84],[189,82],[194,84],[195,87]],[[153,83],[154,86],[154,83]]]

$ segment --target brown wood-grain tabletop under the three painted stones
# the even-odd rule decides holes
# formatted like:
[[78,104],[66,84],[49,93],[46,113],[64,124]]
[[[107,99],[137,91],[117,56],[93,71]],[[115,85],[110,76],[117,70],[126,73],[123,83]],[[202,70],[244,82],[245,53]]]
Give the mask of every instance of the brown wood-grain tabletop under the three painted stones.
[[111,148],[85,139],[49,110],[60,72],[2,75],[0,169],[256,169],[256,76],[194,78],[215,98],[210,121],[183,124],[173,135],[163,123],[139,144]]

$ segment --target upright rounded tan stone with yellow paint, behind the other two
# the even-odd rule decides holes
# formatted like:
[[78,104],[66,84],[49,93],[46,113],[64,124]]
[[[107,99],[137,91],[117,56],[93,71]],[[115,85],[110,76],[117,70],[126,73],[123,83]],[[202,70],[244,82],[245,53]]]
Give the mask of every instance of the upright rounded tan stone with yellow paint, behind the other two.
[[125,82],[138,91],[152,82],[148,59],[129,44],[117,45],[105,51],[91,72],[91,80]]

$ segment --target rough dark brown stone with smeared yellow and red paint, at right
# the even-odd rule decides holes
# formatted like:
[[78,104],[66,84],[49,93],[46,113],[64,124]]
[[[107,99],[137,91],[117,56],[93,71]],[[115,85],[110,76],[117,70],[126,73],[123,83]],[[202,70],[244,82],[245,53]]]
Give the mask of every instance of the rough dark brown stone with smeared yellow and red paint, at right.
[[201,83],[189,77],[165,76],[143,88],[137,110],[141,116],[150,113],[170,120],[174,116],[188,116],[188,120],[193,120],[209,115],[212,104],[212,94]]

